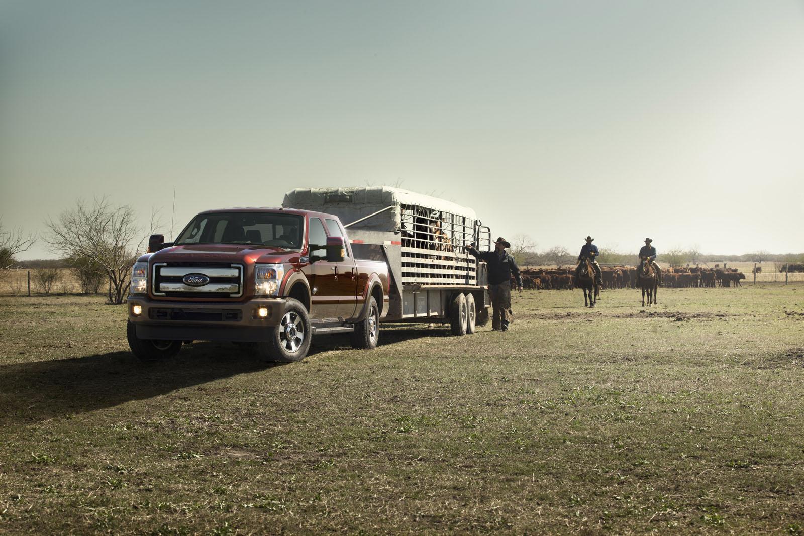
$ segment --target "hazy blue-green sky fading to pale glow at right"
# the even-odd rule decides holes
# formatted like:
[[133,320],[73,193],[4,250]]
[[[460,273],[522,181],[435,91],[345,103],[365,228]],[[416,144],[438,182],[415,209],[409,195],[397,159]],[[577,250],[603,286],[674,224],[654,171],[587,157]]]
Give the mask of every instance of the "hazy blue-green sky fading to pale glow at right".
[[539,250],[802,252],[804,0],[0,0],[6,229],[384,185]]

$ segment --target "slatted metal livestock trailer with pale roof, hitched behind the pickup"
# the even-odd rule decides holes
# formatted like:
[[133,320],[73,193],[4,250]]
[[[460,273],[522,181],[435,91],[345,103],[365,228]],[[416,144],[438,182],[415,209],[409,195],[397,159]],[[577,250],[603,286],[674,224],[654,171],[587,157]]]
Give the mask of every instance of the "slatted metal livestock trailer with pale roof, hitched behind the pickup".
[[384,186],[291,190],[282,207],[337,215],[355,258],[388,263],[384,321],[449,321],[456,334],[488,321],[486,264],[466,245],[490,249],[491,235],[470,208]]

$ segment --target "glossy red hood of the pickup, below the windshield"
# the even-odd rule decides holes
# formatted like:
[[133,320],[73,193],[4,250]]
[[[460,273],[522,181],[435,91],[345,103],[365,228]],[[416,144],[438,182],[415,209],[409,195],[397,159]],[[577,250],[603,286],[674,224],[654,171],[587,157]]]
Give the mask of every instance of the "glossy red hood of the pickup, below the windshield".
[[156,263],[200,262],[200,263],[297,263],[301,252],[271,246],[257,248],[251,244],[202,243],[171,246],[140,260]]

